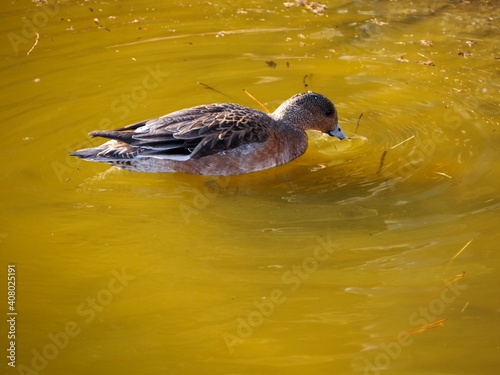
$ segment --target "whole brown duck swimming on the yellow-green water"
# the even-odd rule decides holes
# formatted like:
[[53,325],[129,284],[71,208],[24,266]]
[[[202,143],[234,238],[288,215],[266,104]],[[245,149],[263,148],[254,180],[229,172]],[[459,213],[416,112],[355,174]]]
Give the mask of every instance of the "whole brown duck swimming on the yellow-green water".
[[296,159],[307,149],[306,130],[348,139],[335,105],[308,91],[292,96],[272,113],[214,103],[115,130],[93,131],[90,136],[108,141],[71,155],[129,171],[232,176]]

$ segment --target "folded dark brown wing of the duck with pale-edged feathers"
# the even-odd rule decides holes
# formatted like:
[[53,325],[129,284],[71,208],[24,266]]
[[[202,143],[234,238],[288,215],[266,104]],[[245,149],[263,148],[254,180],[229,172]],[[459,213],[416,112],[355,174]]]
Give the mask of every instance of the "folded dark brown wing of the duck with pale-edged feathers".
[[[274,133],[272,121],[267,114],[238,104],[210,104],[90,135],[118,141],[118,145],[108,143],[121,146],[116,147],[120,158],[186,160],[264,142]],[[101,149],[100,156],[118,158],[112,148]]]

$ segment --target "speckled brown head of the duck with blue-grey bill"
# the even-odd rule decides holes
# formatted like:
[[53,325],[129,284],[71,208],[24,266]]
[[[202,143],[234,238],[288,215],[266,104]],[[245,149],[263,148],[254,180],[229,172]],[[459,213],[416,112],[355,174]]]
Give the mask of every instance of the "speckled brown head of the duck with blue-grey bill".
[[348,138],[339,126],[335,105],[325,96],[311,91],[292,96],[272,116],[302,130],[318,130],[339,139]]

